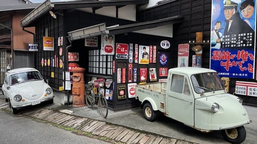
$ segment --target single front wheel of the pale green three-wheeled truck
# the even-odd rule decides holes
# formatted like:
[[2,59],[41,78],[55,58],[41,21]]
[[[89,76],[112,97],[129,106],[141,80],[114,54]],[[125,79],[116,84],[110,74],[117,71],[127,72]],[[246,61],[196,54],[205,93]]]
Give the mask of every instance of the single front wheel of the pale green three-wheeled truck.
[[230,143],[242,143],[246,137],[244,126],[221,130],[221,134]]

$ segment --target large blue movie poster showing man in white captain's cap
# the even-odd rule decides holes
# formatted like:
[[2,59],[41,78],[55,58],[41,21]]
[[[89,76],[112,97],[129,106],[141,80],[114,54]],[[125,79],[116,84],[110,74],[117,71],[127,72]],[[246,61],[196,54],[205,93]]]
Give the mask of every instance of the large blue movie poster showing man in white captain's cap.
[[255,0],[212,1],[210,68],[221,77],[254,78],[255,7]]

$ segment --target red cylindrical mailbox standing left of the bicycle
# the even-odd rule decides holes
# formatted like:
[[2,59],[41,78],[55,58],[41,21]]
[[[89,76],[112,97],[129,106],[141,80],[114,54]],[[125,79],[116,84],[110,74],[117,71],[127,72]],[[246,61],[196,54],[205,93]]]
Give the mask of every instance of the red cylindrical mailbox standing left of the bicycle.
[[82,107],[85,106],[85,81],[84,81],[84,68],[76,67],[72,69],[72,106]]

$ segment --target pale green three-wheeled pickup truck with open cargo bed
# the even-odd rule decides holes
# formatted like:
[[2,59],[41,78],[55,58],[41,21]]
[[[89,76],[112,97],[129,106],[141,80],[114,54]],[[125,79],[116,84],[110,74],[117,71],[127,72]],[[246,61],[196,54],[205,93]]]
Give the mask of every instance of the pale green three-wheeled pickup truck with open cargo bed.
[[161,111],[202,132],[221,130],[231,143],[244,141],[243,125],[251,122],[242,99],[227,93],[218,73],[211,69],[169,69],[167,82],[137,85],[136,98],[142,102],[149,121],[154,121]]

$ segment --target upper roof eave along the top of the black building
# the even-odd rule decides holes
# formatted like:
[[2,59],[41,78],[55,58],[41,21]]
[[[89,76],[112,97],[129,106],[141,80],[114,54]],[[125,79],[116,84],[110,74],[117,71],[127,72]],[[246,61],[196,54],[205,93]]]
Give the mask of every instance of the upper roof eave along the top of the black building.
[[47,0],[39,7],[34,9],[30,14],[21,20],[21,27],[27,27],[30,23],[39,19],[42,15],[48,13],[51,9],[54,10],[68,10],[78,8],[99,8],[108,6],[126,6],[126,5],[144,5],[148,4],[149,0],[106,0],[106,1],[92,1],[92,0],[67,0],[67,1],[53,1]]

